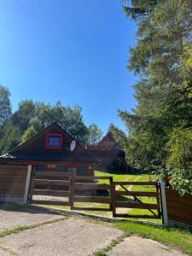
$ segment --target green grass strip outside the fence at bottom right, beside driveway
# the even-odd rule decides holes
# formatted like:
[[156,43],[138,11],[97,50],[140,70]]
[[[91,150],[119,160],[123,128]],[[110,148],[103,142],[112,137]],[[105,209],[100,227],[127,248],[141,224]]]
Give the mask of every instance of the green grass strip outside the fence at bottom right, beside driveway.
[[192,231],[165,228],[159,224],[142,224],[134,221],[116,222],[113,227],[177,247],[183,253],[192,255]]

